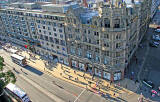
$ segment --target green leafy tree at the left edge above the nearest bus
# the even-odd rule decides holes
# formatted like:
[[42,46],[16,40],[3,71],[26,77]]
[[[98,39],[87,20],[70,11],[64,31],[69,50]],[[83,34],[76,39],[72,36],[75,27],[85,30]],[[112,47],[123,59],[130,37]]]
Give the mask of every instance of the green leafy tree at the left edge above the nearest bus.
[[3,92],[3,88],[10,82],[15,83],[16,77],[11,70],[4,72],[4,59],[0,56],[0,94]]

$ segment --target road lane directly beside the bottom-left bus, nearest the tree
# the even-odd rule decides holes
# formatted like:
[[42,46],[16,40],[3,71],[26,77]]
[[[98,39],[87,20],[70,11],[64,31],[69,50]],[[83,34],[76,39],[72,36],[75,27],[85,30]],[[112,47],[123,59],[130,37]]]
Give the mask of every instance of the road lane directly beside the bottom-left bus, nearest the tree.
[[43,94],[40,90],[36,89],[34,86],[18,76],[16,85],[28,94],[32,102],[55,102],[54,100]]

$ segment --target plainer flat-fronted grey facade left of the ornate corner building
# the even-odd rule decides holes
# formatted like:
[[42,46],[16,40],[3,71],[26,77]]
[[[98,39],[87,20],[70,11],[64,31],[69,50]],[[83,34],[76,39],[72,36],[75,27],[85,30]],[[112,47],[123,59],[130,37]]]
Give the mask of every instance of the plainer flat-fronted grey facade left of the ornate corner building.
[[42,10],[6,8],[0,10],[1,39],[25,46],[51,59],[68,65],[63,13]]

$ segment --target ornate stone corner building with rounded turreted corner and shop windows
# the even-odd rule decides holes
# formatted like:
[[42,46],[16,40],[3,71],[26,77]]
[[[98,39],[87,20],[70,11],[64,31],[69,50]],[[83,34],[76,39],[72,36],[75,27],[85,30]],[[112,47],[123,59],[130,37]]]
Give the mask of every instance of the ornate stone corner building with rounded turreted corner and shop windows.
[[116,0],[94,10],[69,9],[65,34],[70,66],[111,81],[123,79],[148,29],[150,2]]

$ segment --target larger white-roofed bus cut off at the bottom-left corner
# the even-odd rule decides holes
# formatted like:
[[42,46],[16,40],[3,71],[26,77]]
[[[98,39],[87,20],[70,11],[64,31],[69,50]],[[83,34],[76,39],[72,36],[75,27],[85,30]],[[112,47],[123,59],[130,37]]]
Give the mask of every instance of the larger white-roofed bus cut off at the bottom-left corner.
[[31,102],[27,94],[15,84],[9,83],[4,90],[18,102]]

